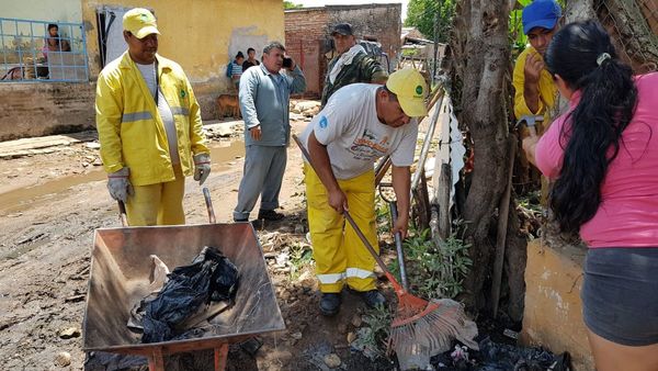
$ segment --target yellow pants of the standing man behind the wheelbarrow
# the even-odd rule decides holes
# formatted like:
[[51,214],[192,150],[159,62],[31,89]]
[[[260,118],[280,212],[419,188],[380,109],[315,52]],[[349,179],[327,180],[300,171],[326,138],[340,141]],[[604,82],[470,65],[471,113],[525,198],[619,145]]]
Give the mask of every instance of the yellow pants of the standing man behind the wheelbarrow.
[[175,180],[148,186],[134,186],[135,194],[128,196],[126,214],[128,225],[185,224],[183,195],[185,177],[180,165],[173,166]]

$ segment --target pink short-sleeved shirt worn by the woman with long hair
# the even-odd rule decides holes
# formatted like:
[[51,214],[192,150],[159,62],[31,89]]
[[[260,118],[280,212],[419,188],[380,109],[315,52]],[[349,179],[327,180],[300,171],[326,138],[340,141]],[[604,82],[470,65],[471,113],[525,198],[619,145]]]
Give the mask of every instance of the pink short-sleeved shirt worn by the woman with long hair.
[[[658,247],[658,72],[636,77],[635,86],[637,109],[608,167],[601,204],[580,227],[590,247]],[[578,92],[571,97],[570,110],[579,99]],[[556,119],[536,146],[537,168],[548,178],[559,177],[566,117]]]

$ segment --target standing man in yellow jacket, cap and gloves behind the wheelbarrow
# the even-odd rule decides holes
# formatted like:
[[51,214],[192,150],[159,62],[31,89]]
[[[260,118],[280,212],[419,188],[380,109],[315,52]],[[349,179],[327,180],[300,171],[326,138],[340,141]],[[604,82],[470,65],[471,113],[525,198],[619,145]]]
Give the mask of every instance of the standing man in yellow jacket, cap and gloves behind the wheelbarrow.
[[136,8],[123,18],[128,49],[97,86],[97,127],[110,195],[129,225],[184,224],[185,176],[211,171],[198,103],[181,66],[158,52],[156,18]]

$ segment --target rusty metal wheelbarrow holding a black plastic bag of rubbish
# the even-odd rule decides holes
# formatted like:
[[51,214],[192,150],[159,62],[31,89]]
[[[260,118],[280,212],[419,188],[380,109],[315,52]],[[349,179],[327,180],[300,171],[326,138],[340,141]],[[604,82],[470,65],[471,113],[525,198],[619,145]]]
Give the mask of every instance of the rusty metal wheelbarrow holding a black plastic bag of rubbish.
[[[86,351],[145,356],[149,370],[159,371],[164,355],[214,349],[215,370],[224,370],[229,344],[285,329],[253,227],[215,224],[209,192],[204,193],[209,224],[95,231],[82,325]],[[209,319],[209,330],[200,338],[141,344],[126,324],[131,308],[149,294],[149,257],[173,269],[189,265],[204,246],[218,247],[238,268],[235,305]]]

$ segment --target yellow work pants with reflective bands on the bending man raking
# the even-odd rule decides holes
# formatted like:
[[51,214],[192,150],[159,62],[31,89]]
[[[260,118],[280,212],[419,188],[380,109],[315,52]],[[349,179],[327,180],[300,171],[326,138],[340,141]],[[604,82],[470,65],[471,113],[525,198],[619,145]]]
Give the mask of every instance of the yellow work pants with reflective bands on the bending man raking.
[[[315,171],[305,165],[304,173],[308,227],[320,291],[338,293],[345,281],[355,291],[375,289],[375,259],[343,215],[329,205],[327,189]],[[348,196],[350,215],[378,252],[374,171],[339,180],[338,184]]]

